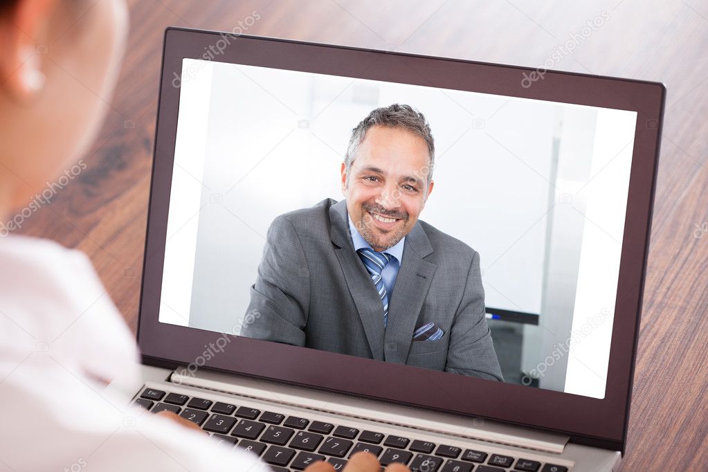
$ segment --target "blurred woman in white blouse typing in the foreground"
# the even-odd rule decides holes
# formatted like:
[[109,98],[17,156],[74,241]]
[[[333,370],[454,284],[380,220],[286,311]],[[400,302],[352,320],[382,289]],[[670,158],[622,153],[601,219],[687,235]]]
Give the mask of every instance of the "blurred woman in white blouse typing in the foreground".
[[[130,405],[119,392],[137,376],[137,347],[89,258],[8,234],[89,149],[126,34],[122,0],[0,0],[0,470],[267,471],[191,422]],[[359,453],[345,471],[379,467]],[[320,471],[333,467],[307,468]]]

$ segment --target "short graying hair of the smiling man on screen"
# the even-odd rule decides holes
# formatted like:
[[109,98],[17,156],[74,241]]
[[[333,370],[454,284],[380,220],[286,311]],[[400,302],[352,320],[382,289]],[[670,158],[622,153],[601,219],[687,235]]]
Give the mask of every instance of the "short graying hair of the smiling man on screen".
[[374,126],[403,128],[413,134],[417,134],[425,140],[428,145],[429,160],[428,168],[421,169],[421,173],[426,174],[428,184],[430,184],[430,180],[433,179],[433,165],[435,164],[435,142],[433,141],[433,134],[430,132],[430,125],[428,125],[423,113],[415,110],[410,105],[399,105],[398,103],[387,107],[376,108],[352,129],[352,137],[349,139],[349,146],[344,155],[344,165],[346,166],[347,175],[349,175],[352,163],[354,159],[356,159],[359,145],[364,142],[366,132]]

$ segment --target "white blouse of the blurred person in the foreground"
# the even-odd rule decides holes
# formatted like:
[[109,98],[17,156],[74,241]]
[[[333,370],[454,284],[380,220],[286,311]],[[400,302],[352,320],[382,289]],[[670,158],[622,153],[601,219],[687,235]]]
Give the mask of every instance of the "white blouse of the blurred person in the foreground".
[[0,238],[0,471],[269,470],[105,388],[135,385],[138,359],[84,253]]

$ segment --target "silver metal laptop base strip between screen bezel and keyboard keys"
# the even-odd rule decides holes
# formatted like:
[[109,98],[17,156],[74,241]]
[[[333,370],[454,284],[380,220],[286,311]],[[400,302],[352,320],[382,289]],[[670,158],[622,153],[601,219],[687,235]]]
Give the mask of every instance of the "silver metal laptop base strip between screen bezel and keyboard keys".
[[[380,430],[411,439],[449,444],[463,449],[481,449],[489,454],[523,456],[552,462],[572,471],[612,471],[619,451],[582,446],[569,437],[525,427],[505,425],[481,418],[466,418],[355,398],[309,388],[290,386],[219,372],[186,372],[142,366],[144,386],[189,396],[207,396],[261,410],[277,410],[312,420],[343,424],[362,430]],[[137,386],[139,394],[144,386]],[[201,392],[201,393],[200,393]]]

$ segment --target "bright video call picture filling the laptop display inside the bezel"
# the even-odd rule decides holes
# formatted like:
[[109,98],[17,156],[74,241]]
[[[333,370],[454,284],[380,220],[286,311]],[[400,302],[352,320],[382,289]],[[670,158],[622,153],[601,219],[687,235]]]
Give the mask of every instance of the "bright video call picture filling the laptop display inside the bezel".
[[604,398],[635,112],[177,79],[159,321]]

